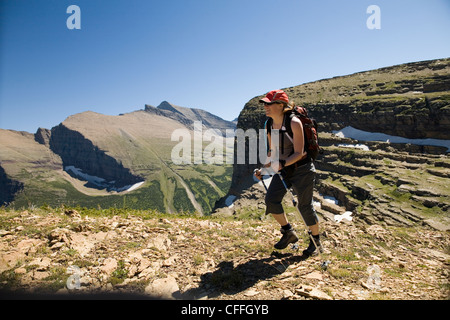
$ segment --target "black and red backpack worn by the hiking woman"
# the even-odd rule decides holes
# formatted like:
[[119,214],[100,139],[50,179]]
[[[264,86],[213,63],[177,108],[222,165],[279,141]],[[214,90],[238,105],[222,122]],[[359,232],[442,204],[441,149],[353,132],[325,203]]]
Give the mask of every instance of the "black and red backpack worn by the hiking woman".
[[[283,126],[280,129],[280,133],[282,133],[281,148],[283,149],[283,139],[285,134],[289,140],[293,141],[293,133],[291,129],[291,120],[293,117],[297,117],[302,122],[303,135],[305,137],[305,151],[308,154],[308,158],[316,160],[319,153],[323,153],[323,150],[319,146],[317,122],[308,116],[308,111],[304,107],[295,106],[291,111],[285,113]],[[269,118],[265,123],[267,133],[270,133],[272,129],[272,122],[272,118]]]

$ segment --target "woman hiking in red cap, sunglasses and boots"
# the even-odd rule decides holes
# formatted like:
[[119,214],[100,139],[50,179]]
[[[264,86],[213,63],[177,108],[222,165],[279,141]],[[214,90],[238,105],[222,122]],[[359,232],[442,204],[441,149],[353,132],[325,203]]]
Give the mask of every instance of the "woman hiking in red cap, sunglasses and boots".
[[[270,132],[282,128],[285,130],[286,121],[291,121],[292,137],[286,137],[286,132],[279,131],[278,136],[280,141],[278,146],[280,146],[280,149],[278,163],[276,161],[274,163],[272,160],[272,163],[267,163],[264,167],[271,166],[275,171],[281,171],[287,187],[294,189],[297,195],[298,209],[306,225],[309,227],[308,232],[312,234],[314,242],[320,247],[319,220],[313,207],[313,188],[316,170],[314,163],[304,150],[303,125],[297,117],[290,118],[288,116],[293,106],[289,104],[289,98],[283,90],[270,91],[260,102],[264,103],[266,116],[272,118],[271,121],[268,121],[271,123],[271,128],[267,128],[269,141],[268,159],[274,154],[274,150],[271,149]],[[262,179],[261,169],[255,170],[255,176],[260,180]],[[276,249],[284,249],[290,243],[298,241],[298,236],[289,223],[281,204],[285,194],[286,188],[278,174],[275,174],[267,189],[265,203],[266,214],[272,214],[281,226],[280,231],[282,237],[275,244]],[[303,251],[304,256],[308,257],[315,252],[316,246],[314,242],[310,239],[308,248]]]

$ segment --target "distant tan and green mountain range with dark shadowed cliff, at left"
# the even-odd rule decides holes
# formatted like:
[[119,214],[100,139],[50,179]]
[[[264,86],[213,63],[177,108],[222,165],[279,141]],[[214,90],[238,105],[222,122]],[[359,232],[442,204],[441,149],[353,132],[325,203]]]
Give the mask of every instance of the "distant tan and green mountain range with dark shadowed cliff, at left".
[[[191,124],[201,121],[203,115],[207,118],[203,126],[208,128],[213,122],[211,119],[216,117],[199,111],[189,114],[188,108],[178,106],[162,110],[164,105],[169,109],[166,102],[158,110],[162,111],[159,114],[136,110],[112,116],[85,111],[67,117],[50,130],[39,128],[34,135],[14,133],[13,130],[0,132],[5,147],[3,152],[0,151],[0,167],[4,167],[5,172],[1,175],[3,178],[0,177],[0,183],[7,186],[5,194],[1,193],[2,204],[55,205],[64,201],[79,201],[80,205],[87,206],[96,206],[95,203],[139,206],[141,203],[141,208],[163,212],[209,212],[217,198],[225,193],[225,189],[221,188],[224,183],[226,185],[227,177],[218,176],[217,172],[222,172],[222,169],[208,166],[206,170],[209,174],[204,177],[197,167],[175,167],[171,162],[171,149],[176,142],[171,141],[171,134],[176,129],[192,130]],[[173,117],[180,110],[182,117]],[[234,126],[222,119],[221,122],[223,126]],[[41,150],[58,159],[57,174],[46,169],[46,174],[53,177],[52,183],[58,186],[53,188],[45,180],[33,179],[32,165],[23,159],[16,161],[14,147],[8,143],[9,132],[22,137],[16,141],[19,145],[31,144],[30,150]],[[27,151],[24,150],[23,154],[26,155]],[[5,164],[8,161],[26,175],[14,173],[11,165]],[[36,154],[30,161],[38,163],[39,155]],[[217,189],[219,193],[206,192],[211,183],[220,186]],[[128,187],[132,186],[136,189],[129,190]],[[193,196],[196,189],[201,189],[202,199],[197,200]],[[159,191],[148,195],[146,190]],[[98,196],[101,198],[96,198]],[[105,196],[115,200],[107,200]],[[130,198],[132,201],[127,201]]]

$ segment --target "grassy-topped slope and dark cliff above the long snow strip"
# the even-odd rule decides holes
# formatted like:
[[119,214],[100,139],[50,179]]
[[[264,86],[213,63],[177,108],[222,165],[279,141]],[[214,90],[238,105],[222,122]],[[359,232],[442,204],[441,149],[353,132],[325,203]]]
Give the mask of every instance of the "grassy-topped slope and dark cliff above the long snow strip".
[[450,139],[450,59],[361,72],[287,91],[328,125]]

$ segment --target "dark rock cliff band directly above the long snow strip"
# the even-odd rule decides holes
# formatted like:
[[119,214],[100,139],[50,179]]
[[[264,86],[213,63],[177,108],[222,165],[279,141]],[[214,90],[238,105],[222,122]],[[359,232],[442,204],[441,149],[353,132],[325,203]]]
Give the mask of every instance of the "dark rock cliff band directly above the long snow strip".
[[352,101],[351,105],[318,103],[310,109],[318,121],[329,126],[334,123],[335,128],[352,126],[364,131],[382,132],[411,139],[448,140],[450,105],[442,98],[426,95],[400,96],[392,100]]

